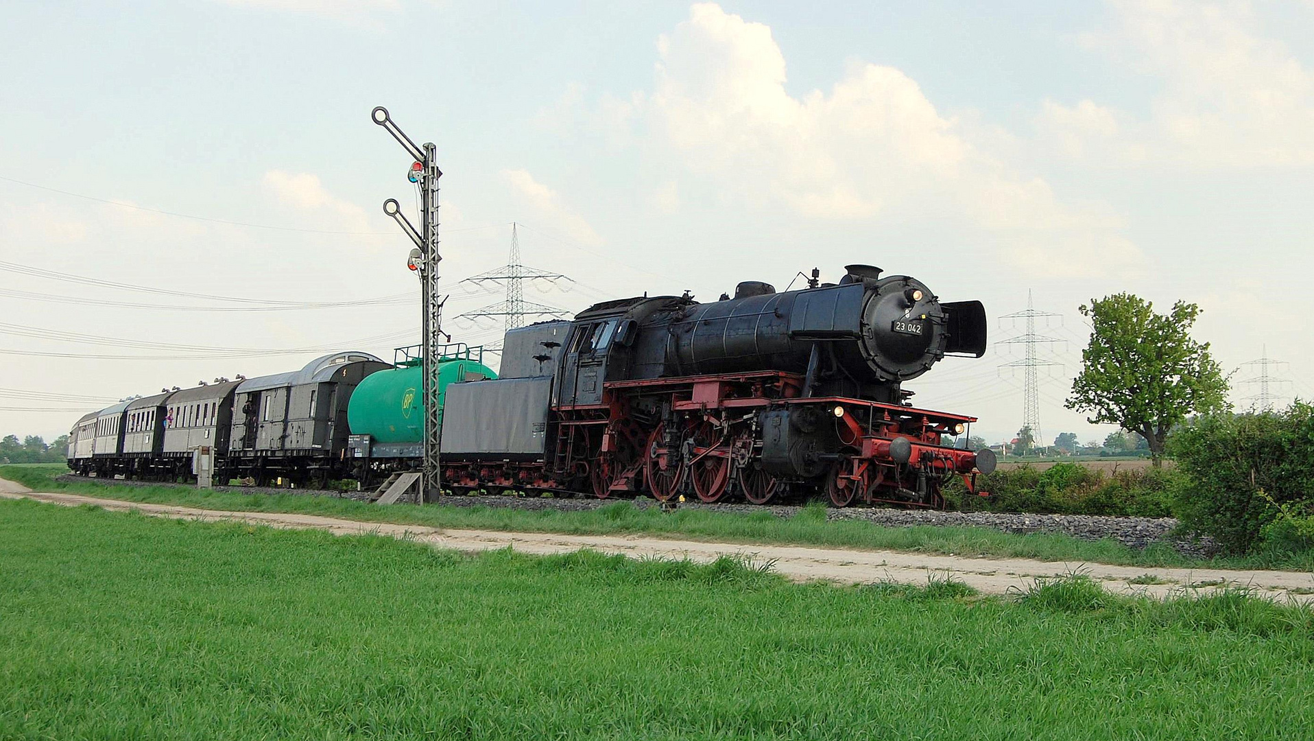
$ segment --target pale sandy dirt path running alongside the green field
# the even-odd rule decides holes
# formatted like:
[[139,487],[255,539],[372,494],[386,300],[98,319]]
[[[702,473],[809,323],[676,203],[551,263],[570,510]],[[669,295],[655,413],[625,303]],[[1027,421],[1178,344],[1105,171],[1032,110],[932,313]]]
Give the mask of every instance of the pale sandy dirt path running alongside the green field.
[[[284,512],[231,512],[168,505],[143,505],[81,497],[78,494],[34,493],[25,486],[0,480],[0,497],[30,498],[55,505],[95,505],[106,510],[137,510],[146,515],[202,522],[242,522],[277,528],[315,528],[334,535],[377,533],[410,537],[435,548],[493,550],[511,547],[524,553],[566,553],[591,548],[632,558],[665,557],[712,561],[719,556],[746,556],[774,561],[775,572],[795,581],[829,579],[840,583],[895,581],[925,583],[929,577],[951,577],[982,593],[1003,594],[1025,589],[1037,577],[1054,577],[1081,569],[1114,593],[1146,593],[1164,596],[1183,587],[1206,593],[1223,585],[1248,586],[1259,594],[1280,599],[1314,602],[1314,574],[1302,572],[1244,572],[1222,569],[1148,569],[1102,564],[1062,564],[1029,558],[968,558],[896,550],[851,550],[803,545],[742,545],[670,540],[644,535],[552,535],[539,532],[498,532],[484,529],[439,529],[420,526],[361,523],[317,515]],[[1133,579],[1154,577],[1159,583],[1133,585]]]

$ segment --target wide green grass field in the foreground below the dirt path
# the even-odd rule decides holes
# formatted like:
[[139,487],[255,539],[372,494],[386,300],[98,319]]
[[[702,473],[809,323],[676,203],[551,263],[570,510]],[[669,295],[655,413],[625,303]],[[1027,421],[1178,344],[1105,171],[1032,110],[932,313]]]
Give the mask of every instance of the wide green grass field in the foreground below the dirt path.
[[0,501],[0,738],[1310,738],[1314,614]]

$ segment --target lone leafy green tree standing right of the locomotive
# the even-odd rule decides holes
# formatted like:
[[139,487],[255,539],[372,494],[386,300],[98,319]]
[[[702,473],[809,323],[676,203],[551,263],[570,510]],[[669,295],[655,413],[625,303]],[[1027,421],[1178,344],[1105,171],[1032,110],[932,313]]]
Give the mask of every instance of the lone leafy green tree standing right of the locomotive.
[[1198,306],[1177,301],[1158,314],[1154,303],[1116,293],[1092,298],[1080,310],[1093,331],[1068,409],[1089,413],[1088,422],[1139,434],[1156,466],[1175,424],[1190,414],[1227,409],[1227,378],[1209,343],[1190,336]]

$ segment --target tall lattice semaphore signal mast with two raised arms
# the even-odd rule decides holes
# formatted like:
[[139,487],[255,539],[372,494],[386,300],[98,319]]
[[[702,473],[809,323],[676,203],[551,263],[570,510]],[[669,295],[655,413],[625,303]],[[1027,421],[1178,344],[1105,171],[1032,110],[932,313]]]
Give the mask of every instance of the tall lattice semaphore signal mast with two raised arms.
[[369,117],[374,124],[386,129],[411,156],[414,164],[409,179],[419,185],[420,192],[419,230],[411,226],[402,214],[396,198],[384,201],[384,213],[393,217],[406,236],[410,236],[411,242],[415,243],[407,265],[419,273],[423,311],[420,334],[423,335],[424,352],[420,370],[420,395],[424,399],[424,462],[419,501],[422,503],[436,502],[442,491],[442,468],[439,468],[442,409],[438,405],[438,369],[447,336],[443,334],[443,302],[445,298],[438,293],[438,263],[443,259],[438,252],[438,179],[443,176],[443,171],[438,168],[438,147],[432,142],[426,142],[423,147],[415,146],[415,142],[393,124],[386,108],[381,105],[374,108]]

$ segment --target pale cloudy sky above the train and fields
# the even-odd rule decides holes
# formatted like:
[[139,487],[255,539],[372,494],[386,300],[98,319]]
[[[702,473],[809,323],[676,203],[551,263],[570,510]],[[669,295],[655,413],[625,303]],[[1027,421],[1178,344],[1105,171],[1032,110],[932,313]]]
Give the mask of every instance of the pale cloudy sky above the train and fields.
[[[1062,399],[1077,306],[1120,290],[1198,302],[1226,368],[1267,347],[1273,392],[1307,398],[1311,38],[1307,0],[9,0],[0,434],[418,342],[380,209],[414,204],[409,162],[374,105],[442,154],[449,318],[498,301],[457,281],[506,261],[515,221],[527,264],[574,279],[526,297],[569,310],[870,263],[984,301],[1003,340],[1030,293],[1059,314],[1046,439],[1109,430]],[[1010,436],[1010,347],[916,401]]]

